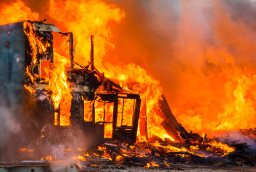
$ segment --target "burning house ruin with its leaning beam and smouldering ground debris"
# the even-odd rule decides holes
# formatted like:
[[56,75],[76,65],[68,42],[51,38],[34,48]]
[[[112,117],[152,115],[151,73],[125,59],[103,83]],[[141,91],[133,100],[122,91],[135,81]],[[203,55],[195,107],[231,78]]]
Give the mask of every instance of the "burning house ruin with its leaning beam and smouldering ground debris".
[[[68,58],[55,52],[54,33],[66,38]],[[10,163],[10,168],[27,166],[32,171],[38,166],[49,171],[48,161],[64,159],[79,160],[81,167],[75,167],[80,170],[101,168],[102,161],[178,170],[182,168],[174,164],[185,162],[214,165],[238,160],[240,165],[254,164],[254,154],[251,161],[239,159],[247,157],[241,155],[248,150],[246,145],[230,147],[206,135],[188,133],[175,119],[164,95],[158,100],[159,114],[164,117],[160,125],[171,137],[167,142],[154,133],[149,138],[148,129],[151,133],[154,126],[152,122],[148,126],[152,119],[147,119],[146,105],[141,105],[140,95],[97,70],[93,35],[87,66],[74,61],[72,32],[61,32],[54,25],[36,21],[3,25],[0,38],[1,104],[21,124],[19,135],[11,135],[11,141],[0,149],[0,160],[30,159]],[[146,142],[136,143],[138,130]],[[244,133],[255,132],[244,130]],[[152,140],[158,142],[150,143]],[[206,158],[204,154],[218,158]],[[72,162],[64,164],[64,168],[73,168]],[[5,167],[6,163],[1,165]]]

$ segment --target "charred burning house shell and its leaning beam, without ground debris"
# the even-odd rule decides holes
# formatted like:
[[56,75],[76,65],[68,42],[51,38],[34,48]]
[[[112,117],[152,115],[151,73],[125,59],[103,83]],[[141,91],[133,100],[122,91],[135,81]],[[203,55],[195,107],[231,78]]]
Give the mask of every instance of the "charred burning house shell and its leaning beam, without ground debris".
[[[69,43],[70,62],[59,76],[54,73],[52,32],[66,36]],[[104,139],[136,142],[140,95],[115,84],[96,69],[93,36],[88,66],[73,60],[72,33],[62,33],[50,24],[24,21],[3,25],[0,38],[1,101],[21,124],[19,134],[2,146],[1,155],[12,158],[9,152],[30,147],[34,156],[41,157],[43,153],[47,155],[50,145],[89,147]],[[47,66],[49,72],[44,73],[42,66]],[[61,91],[58,81],[51,82],[61,74],[66,76],[68,85],[64,86],[70,99],[57,95]],[[165,129],[174,138],[188,140],[190,134],[176,121],[162,98]]]

